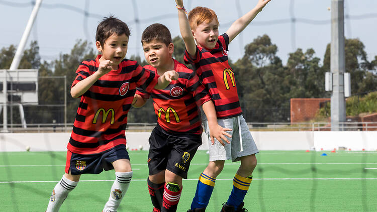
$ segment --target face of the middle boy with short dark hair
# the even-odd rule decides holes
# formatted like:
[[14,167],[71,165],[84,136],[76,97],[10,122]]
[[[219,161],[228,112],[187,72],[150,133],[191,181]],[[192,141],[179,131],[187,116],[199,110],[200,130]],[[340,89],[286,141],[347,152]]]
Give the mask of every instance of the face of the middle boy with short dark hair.
[[145,60],[149,65],[157,70],[167,70],[172,63],[171,55],[174,51],[174,45],[170,43],[168,46],[161,41],[153,40],[149,43],[143,42],[143,50]]

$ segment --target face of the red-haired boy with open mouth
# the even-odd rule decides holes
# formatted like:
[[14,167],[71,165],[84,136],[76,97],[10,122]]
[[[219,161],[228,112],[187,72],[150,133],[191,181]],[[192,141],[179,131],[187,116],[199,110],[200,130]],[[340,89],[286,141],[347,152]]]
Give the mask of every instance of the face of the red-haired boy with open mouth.
[[219,38],[219,24],[213,19],[210,23],[202,23],[193,30],[198,46],[213,49]]

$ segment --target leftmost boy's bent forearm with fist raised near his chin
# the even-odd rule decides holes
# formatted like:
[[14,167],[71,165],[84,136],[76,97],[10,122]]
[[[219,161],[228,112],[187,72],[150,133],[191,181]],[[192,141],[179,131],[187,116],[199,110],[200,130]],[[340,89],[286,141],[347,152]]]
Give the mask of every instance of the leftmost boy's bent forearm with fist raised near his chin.
[[112,70],[113,62],[110,60],[102,61],[98,67],[98,71],[77,82],[71,88],[71,95],[73,98],[78,98],[84,94],[91,85],[93,85],[101,76]]

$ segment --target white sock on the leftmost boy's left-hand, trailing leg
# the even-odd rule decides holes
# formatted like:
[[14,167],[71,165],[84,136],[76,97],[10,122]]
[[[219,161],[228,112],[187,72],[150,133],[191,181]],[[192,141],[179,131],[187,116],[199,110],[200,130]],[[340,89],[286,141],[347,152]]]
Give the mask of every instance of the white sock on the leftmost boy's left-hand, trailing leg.
[[68,193],[76,187],[78,182],[67,179],[64,175],[52,190],[46,212],[57,212]]

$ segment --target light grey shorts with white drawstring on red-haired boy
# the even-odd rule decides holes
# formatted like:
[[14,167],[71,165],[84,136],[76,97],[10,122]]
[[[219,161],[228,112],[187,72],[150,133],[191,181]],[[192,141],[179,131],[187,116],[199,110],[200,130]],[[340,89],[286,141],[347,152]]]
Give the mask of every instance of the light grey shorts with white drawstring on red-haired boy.
[[[230,141],[230,144],[224,142],[225,146],[221,145],[217,141],[217,139],[215,139],[215,144],[212,145],[209,136],[210,129],[208,127],[208,121],[204,113],[202,113],[202,121],[208,137],[210,161],[232,159],[232,161],[235,162],[239,161],[241,159],[240,157],[252,155],[259,152],[254,139],[251,136],[249,127],[247,126],[246,121],[242,115],[228,119],[217,120],[218,124],[221,127],[232,129],[232,131],[228,131],[232,138],[225,136]],[[241,138],[239,126],[241,126]],[[241,151],[241,139],[243,151]]]

